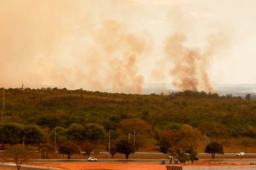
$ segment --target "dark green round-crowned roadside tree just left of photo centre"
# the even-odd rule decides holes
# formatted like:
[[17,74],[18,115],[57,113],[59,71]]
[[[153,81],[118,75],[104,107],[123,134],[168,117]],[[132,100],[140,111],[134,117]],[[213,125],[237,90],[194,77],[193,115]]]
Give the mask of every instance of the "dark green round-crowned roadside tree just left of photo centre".
[[135,147],[128,140],[120,140],[117,143],[117,153],[123,153],[125,159],[129,159],[129,155],[135,153]]

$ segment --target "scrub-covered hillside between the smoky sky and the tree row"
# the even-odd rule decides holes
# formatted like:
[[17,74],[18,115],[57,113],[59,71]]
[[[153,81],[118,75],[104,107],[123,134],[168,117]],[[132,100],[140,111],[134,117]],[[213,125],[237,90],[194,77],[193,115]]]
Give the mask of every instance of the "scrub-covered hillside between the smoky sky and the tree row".
[[215,122],[224,126],[229,136],[256,135],[256,101],[231,95],[203,91],[136,95],[65,88],[5,89],[6,122],[48,128],[92,122],[106,129],[106,124],[113,124],[117,129],[119,122],[129,118],[145,120],[152,130],[166,129],[172,122],[203,130],[205,122]]

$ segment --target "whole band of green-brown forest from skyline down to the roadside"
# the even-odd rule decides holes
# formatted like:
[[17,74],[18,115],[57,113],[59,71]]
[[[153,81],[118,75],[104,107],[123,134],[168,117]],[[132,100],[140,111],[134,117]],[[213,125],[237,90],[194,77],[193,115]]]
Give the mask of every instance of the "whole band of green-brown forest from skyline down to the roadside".
[[67,140],[104,145],[108,132],[113,140],[139,136],[133,141],[137,149],[156,148],[168,130],[186,128],[215,139],[256,136],[256,101],[249,95],[243,99],[203,91],[138,95],[65,88],[2,88],[1,93],[0,137],[11,144],[54,143],[55,131],[58,145]]

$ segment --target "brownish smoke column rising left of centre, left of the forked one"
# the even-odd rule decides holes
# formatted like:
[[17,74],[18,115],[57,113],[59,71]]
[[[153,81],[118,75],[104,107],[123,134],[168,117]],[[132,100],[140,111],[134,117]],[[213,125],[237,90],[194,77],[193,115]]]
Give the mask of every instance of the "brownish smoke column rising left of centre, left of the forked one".
[[137,70],[137,60],[143,54],[147,42],[143,36],[129,33],[121,23],[109,20],[93,34],[94,47],[107,57],[109,69],[106,81],[113,91],[142,93],[143,76]]

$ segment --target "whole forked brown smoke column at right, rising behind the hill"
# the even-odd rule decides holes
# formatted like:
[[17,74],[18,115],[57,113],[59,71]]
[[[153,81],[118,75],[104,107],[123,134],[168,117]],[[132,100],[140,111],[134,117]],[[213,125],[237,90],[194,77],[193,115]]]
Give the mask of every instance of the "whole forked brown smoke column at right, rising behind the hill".
[[[207,67],[209,60],[226,43],[226,36],[218,34],[223,39],[209,38],[207,48],[202,51],[197,48],[185,46],[186,36],[184,34],[173,34],[166,40],[164,48],[166,58],[174,67],[170,69],[173,77],[173,85],[181,90],[197,91],[199,87],[205,91],[212,91]],[[216,37],[212,36],[212,37]]]

